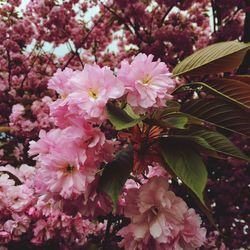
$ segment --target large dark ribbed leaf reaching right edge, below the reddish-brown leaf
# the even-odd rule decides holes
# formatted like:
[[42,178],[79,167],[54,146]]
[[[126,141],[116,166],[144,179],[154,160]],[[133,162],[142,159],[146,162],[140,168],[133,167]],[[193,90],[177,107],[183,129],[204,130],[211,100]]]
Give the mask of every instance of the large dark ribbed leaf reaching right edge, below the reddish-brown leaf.
[[219,98],[191,100],[181,111],[218,127],[250,137],[249,113],[231,102]]

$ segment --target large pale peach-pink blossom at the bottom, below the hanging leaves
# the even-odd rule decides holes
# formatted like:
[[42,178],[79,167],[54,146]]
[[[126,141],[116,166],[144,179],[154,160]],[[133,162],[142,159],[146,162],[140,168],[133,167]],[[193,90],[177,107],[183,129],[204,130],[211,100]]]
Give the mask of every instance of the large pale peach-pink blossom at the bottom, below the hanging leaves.
[[178,249],[180,239],[195,249],[205,241],[199,217],[193,210],[187,215],[186,203],[168,190],[166,178],[153,177],[139,189],[128,190],[125,201],[125,216],[131,224],[118,233],[124,237],[120,246],[125,249],[143,249],[151,243],[155,249]]

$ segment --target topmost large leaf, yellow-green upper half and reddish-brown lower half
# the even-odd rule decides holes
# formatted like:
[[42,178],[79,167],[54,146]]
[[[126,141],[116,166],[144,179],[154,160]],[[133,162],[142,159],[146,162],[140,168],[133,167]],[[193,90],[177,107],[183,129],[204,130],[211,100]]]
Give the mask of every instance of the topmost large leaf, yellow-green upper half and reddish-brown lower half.
[[250,43],[220,42],[196,51],[173,70],[174,75],[207,75],[231,72],[239,67]]

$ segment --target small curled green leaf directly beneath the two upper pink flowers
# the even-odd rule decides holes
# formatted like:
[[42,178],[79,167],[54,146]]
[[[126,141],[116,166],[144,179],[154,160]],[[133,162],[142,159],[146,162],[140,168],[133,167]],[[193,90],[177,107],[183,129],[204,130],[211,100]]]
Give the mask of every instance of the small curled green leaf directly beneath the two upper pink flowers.
[[108,113],[108,119],[116,130],[134,127],[136,124],[140,123],[146,118],[146,116],[142,116],[140,118],[134,119],[128,115],[128,111],[126,112],[112,103],[107,103],[106,109]]

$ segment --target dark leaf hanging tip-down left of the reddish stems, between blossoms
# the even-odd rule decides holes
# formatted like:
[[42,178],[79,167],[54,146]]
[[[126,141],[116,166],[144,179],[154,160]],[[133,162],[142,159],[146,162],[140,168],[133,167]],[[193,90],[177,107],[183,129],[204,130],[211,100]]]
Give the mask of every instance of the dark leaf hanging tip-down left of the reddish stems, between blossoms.
[[128,179],[133,167],[133,151],[129,148],[120,151],[116,159],[106,165],[100,178],[99,191],[106,193],[116,210],[118,196]]

